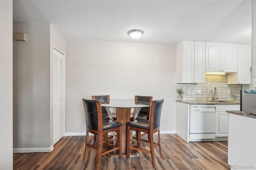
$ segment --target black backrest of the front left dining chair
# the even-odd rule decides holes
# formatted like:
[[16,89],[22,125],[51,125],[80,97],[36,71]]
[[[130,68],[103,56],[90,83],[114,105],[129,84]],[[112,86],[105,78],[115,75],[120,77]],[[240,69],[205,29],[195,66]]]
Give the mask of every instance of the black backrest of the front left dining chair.
[[102,111],[99,100],[82,99],[86,126],[93,130],[102,129]]

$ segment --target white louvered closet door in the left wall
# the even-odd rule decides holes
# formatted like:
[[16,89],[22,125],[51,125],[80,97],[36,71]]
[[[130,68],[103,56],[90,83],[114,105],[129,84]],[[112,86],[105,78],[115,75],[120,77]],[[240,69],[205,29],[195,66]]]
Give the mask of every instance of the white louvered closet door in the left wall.
[[64,55],[53,49],[53,144],[64,136]]

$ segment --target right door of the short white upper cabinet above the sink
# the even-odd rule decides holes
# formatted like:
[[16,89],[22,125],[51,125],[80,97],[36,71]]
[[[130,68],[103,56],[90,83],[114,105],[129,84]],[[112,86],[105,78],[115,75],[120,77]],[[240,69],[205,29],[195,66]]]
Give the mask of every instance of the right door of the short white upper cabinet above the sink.
[[234,43],[222,43],[222,67],[221,71],[237,72],[238,45]]

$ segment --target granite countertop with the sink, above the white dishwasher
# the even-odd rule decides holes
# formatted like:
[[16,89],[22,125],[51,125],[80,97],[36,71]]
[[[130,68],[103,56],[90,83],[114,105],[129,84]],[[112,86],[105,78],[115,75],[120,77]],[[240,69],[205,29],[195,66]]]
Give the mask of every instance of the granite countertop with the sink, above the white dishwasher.
[[240,105],[240,101],[224,101],[224,102],[212,102],[212,101],[205,101],[205,100],[183,100],[176,102],[186,103],[189,105]]

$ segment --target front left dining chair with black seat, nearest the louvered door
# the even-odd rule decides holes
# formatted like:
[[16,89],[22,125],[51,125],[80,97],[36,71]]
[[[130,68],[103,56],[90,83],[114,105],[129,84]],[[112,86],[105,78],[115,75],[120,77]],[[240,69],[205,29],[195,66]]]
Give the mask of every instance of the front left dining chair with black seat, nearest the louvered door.
[[[84,113],[86,120],[86,144],[85,144],[85,153],[84,153],[84,162],[86,161],[88,149],[93,148],[97,150],[96,158],[96,170],[100,169],[100,160],[101,156],[118,150],[119,158],[122,159],[122,124],[111,121],[108,119],[102,119],[102,110],[101,103],[99,100],[87,100],[82,99],[84,105]],[[118,133],[118,146],[108,142],[108,132]],[[89,144],[89,132],[92,134],[98,135],[98,142]],[[104,151],[102,152],[102,144],[104,136]],[[107,146],[113,147],[110,150],[107,150]]]

